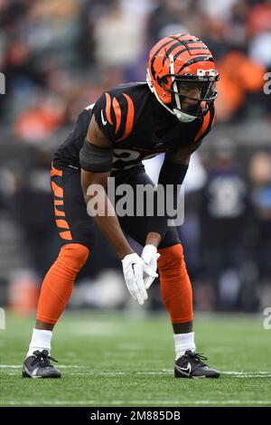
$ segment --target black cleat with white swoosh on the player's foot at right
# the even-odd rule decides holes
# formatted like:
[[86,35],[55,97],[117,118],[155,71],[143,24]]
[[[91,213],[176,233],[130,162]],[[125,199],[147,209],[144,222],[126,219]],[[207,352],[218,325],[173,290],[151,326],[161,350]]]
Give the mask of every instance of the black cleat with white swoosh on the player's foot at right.
[[207,357],[190,350],[186,351],[175,361],[175,378],[219,378],[220,372],[211,369],[202,360],[207,360]]

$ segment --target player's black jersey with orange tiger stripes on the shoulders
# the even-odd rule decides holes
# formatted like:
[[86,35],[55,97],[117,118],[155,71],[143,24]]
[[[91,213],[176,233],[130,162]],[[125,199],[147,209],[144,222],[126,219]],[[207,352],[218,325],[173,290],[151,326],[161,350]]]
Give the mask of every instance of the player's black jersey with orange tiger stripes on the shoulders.
[[[155,126],[155,113],[168,114],[169,125]],[[212,106],[202,118],[182,123],[154,98],[146,83],[123,84],[108,90],[93,105],[80,113],[74,130],[54,156],[55,164],[79,167],[79,151],[94,114],[98,127],[114,149],[112,171],[131,168],[143,159],[199,143],[215,120]]]

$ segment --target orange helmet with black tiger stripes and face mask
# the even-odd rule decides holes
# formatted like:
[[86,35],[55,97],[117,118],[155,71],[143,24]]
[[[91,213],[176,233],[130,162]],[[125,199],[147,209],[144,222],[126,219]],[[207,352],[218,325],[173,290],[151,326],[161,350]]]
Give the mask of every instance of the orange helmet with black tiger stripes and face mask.
[[[188,33],[165,37],[150,52],[146,80],[156,99],[182,122],[190,122],[205,115],[217,97],[215,70],[209,48]],[[182,85],[199,84],[200,97],[193,99],[182,93]],[[192,99],[196,107],[182,110],[182,99]]]

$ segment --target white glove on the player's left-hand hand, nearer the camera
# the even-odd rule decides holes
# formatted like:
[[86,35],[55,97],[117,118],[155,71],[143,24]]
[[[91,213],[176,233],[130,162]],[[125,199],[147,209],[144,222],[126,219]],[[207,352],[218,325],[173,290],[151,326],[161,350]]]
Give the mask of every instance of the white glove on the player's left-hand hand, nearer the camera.
[[131,296],[140,305],[144,304],[148,296],[143,280],[143,260],[134,252],[133,254],[126,255],[121,262],[126,286]]

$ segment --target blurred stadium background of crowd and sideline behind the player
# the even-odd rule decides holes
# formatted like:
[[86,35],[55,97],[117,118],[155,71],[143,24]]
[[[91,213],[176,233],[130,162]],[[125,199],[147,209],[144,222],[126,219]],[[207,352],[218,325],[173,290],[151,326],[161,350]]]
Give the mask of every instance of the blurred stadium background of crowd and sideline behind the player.
[[[182,32],[209,45],[221,73],[217,124],[193,155],[179,229],[195,307],[271,306],[271,2],[0,0],[1,307],[32,313],[59,249],[53,151],[81,109],[120,82],[145,80],[150,47]],[[154,179],[162,160],[145,164]],[[101,235],[69,308],[136,309],[120,266]],[[161,308],[156,281],[145,309]]]

